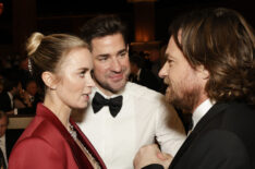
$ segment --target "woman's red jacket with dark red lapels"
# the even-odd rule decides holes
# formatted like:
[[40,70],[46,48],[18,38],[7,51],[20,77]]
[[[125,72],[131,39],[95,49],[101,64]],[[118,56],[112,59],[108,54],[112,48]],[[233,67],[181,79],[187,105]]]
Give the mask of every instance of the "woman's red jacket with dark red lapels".
[[[70,120],[78,140],[102,169],[106,166],[78,126]],[[93,169],[89,160],[60,120],[42,104],[38,104],[33,121],[14,145],[9,169]]]

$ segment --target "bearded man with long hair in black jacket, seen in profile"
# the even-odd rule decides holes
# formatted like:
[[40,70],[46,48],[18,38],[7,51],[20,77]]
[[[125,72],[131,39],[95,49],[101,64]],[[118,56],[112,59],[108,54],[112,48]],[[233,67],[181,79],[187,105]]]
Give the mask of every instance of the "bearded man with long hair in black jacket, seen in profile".
[[183,15],[170,33],[159,76],[169,102],[192,112],[194,126],[173,159],[147,145],[135,168],[255,169],[252,27],[236,11],[218,8]]

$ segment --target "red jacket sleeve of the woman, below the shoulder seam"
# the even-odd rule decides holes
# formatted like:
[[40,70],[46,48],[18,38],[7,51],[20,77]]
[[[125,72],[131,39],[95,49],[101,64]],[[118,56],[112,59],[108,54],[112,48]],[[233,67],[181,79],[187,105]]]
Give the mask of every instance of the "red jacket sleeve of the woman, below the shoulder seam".
[[25,138],[14,146],[9,159],[9,169],[65,168],[65,161],[60,154],[42,138]]

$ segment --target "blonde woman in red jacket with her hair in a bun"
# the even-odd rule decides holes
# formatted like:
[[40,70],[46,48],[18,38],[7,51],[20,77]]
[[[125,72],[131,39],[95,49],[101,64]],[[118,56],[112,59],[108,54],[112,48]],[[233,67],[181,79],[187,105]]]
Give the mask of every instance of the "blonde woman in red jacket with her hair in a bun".
[[87,107],[94,82],[88,46],[64,34],[34,33],[27,43],[28,69],[44,87],[34,120],[16,142],[10,169],[106,168],[96,149],[70,119]]

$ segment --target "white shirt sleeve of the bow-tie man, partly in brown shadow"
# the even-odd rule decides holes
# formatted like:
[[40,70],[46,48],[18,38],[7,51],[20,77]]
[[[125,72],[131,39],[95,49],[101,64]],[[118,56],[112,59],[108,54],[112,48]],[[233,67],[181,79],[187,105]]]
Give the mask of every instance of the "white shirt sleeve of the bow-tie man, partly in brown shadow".
[[174,108],[162,101],[156,113],[156,138],[162,152],[174,156],[186,138],[185,130]]

